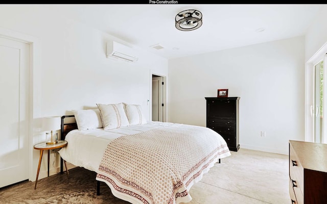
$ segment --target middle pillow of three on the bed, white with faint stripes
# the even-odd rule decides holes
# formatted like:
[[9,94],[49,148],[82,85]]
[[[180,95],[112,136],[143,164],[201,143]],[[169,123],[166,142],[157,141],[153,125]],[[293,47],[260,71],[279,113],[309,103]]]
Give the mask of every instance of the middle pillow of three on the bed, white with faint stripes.
[[97,104],[97,106],[100,110],[104,130],[111,130],[129,125],[123,103]]

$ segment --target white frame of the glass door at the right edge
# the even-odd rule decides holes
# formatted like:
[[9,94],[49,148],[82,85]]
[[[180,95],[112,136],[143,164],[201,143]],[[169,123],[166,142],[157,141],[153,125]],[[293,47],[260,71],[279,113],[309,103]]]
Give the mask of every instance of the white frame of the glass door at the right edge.
[[[314,82],[315,82],[315,65],[324,59],[327,53],[327,42],[307,61],[306,63],[306,94],[305,94],[305,141],[314,142],[315,135],[314,129],[315,124],[312,118],[312,106],[315,107],[315,96],[314,96]],[[325,75],[325,72],[324,72]],[[324,83],[324,87],[326,87],[327,83]],[[324,90],[324,92],[327,90]],[[326,101],[326,95],[323,94],[323,101]],[[324,102],[325,103],[325,102]],[[324,106],[327,107],[327,106]],[[325,123],[325,122],[324,122]]]

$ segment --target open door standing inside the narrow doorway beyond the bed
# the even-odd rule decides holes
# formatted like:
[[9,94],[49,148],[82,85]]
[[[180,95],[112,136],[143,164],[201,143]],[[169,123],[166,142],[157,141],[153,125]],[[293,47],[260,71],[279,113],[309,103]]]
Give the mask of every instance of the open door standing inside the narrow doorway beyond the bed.
[[152,121],[162,122],[162,77],[152,78]]

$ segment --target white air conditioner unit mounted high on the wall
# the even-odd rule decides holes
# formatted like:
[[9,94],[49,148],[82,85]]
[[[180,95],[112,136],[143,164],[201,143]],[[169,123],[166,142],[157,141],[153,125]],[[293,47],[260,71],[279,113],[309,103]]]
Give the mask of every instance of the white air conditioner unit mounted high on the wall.
[[126,62],[136,62],[137,57],[133,55],[133,49],[115,41],[109,41],[106,44],[106,56],[113,60],[122,60]]

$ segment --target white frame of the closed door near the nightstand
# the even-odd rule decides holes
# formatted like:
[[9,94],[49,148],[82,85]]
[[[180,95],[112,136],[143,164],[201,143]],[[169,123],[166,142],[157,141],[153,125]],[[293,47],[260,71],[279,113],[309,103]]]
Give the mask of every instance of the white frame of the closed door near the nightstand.
[[8,38],[11,40],[16,40],[20,42],[25,42],[30,44],[30,65],[29,65],[29,85],[30,85],[30,90],[29,90],[29,130],[28,130],[28,140],[29,140],[29,180],[33,180],[33,102],[34,102],[34,95],[33,95],[33,90],[34,90],[34,83],[33,83],[33,76],[34,72],[33,70],[39,69],[40,64],[41,64],[41,54],[40,54],[40,41],[38,38],[27,35],[25,33],[20,33],[17,31],[9,30],[0,27],[0,36],[4,38]]

